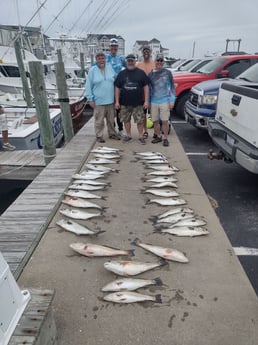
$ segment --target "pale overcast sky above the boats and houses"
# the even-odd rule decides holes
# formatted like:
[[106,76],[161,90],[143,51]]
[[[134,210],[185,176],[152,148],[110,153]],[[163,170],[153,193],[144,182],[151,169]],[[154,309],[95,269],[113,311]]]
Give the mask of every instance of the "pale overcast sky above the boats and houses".
[[[1,24],[42,26],[60,33],[120,35],[126,54],[137,40],[158,39],[170,57],[190,58],[225,51],[226,40],[241,39],[240,50],[258,52],[257,0],[9,0],[1,1]],[[37,13],[38,7],[44,3]],[[229,42],[228,50],[237,50]]]

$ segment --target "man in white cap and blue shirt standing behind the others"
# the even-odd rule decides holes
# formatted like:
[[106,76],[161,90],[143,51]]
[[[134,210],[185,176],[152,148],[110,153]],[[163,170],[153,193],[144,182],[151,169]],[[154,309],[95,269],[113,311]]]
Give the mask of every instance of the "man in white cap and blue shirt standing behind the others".
[[[106,62],[110,63],[115,71],[116,75],[126,67],[126,61],[124,55],[118,54],[118,40],[116,38],[111,38],[109,43],[109,53],[106,54]],[[121,137],[125,137],[123,131],[123,123],[119,118],[119,110],[116,110],[116,123],[118,127],[118,133]]]

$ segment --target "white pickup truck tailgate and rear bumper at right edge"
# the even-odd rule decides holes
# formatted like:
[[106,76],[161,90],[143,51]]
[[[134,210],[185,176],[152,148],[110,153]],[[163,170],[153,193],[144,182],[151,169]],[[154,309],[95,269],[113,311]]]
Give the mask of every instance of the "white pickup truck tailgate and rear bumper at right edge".
[[218,154],[209,152],[210,159],[236,162],[258,174],[258,84],[223,83],[208,131],[220,149]]

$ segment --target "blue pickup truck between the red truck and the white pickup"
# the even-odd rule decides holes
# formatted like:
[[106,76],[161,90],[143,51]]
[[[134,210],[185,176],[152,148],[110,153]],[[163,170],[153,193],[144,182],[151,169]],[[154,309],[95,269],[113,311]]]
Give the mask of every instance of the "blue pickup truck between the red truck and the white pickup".
[[[258,56],[239,62],[239,72],[235,79],[222,78],[204,81],[192,87],[185,103],[185,119],[196,128],[207,130],[208,120],[215,117],[220,85],[225,82],[241,83],[248,80],[258,83]],[[250,67],[251,66],[251,67]],[[240,68],[241,67],[241,68]]]

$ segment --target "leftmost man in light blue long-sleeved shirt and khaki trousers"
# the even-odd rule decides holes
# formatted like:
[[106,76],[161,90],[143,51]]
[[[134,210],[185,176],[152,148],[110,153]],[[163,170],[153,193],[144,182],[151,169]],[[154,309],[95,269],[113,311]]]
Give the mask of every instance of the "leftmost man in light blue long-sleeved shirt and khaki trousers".
[[91,108],[94,109],[95,133],[97,141],[104,143],[104,119],[106,118],[107,130],[110,139],[117,136],[114,126],[114,80],[116,74],[110,64],[106,64],[105,54],[96,54],[96,64],[89,70],[85,96]]

